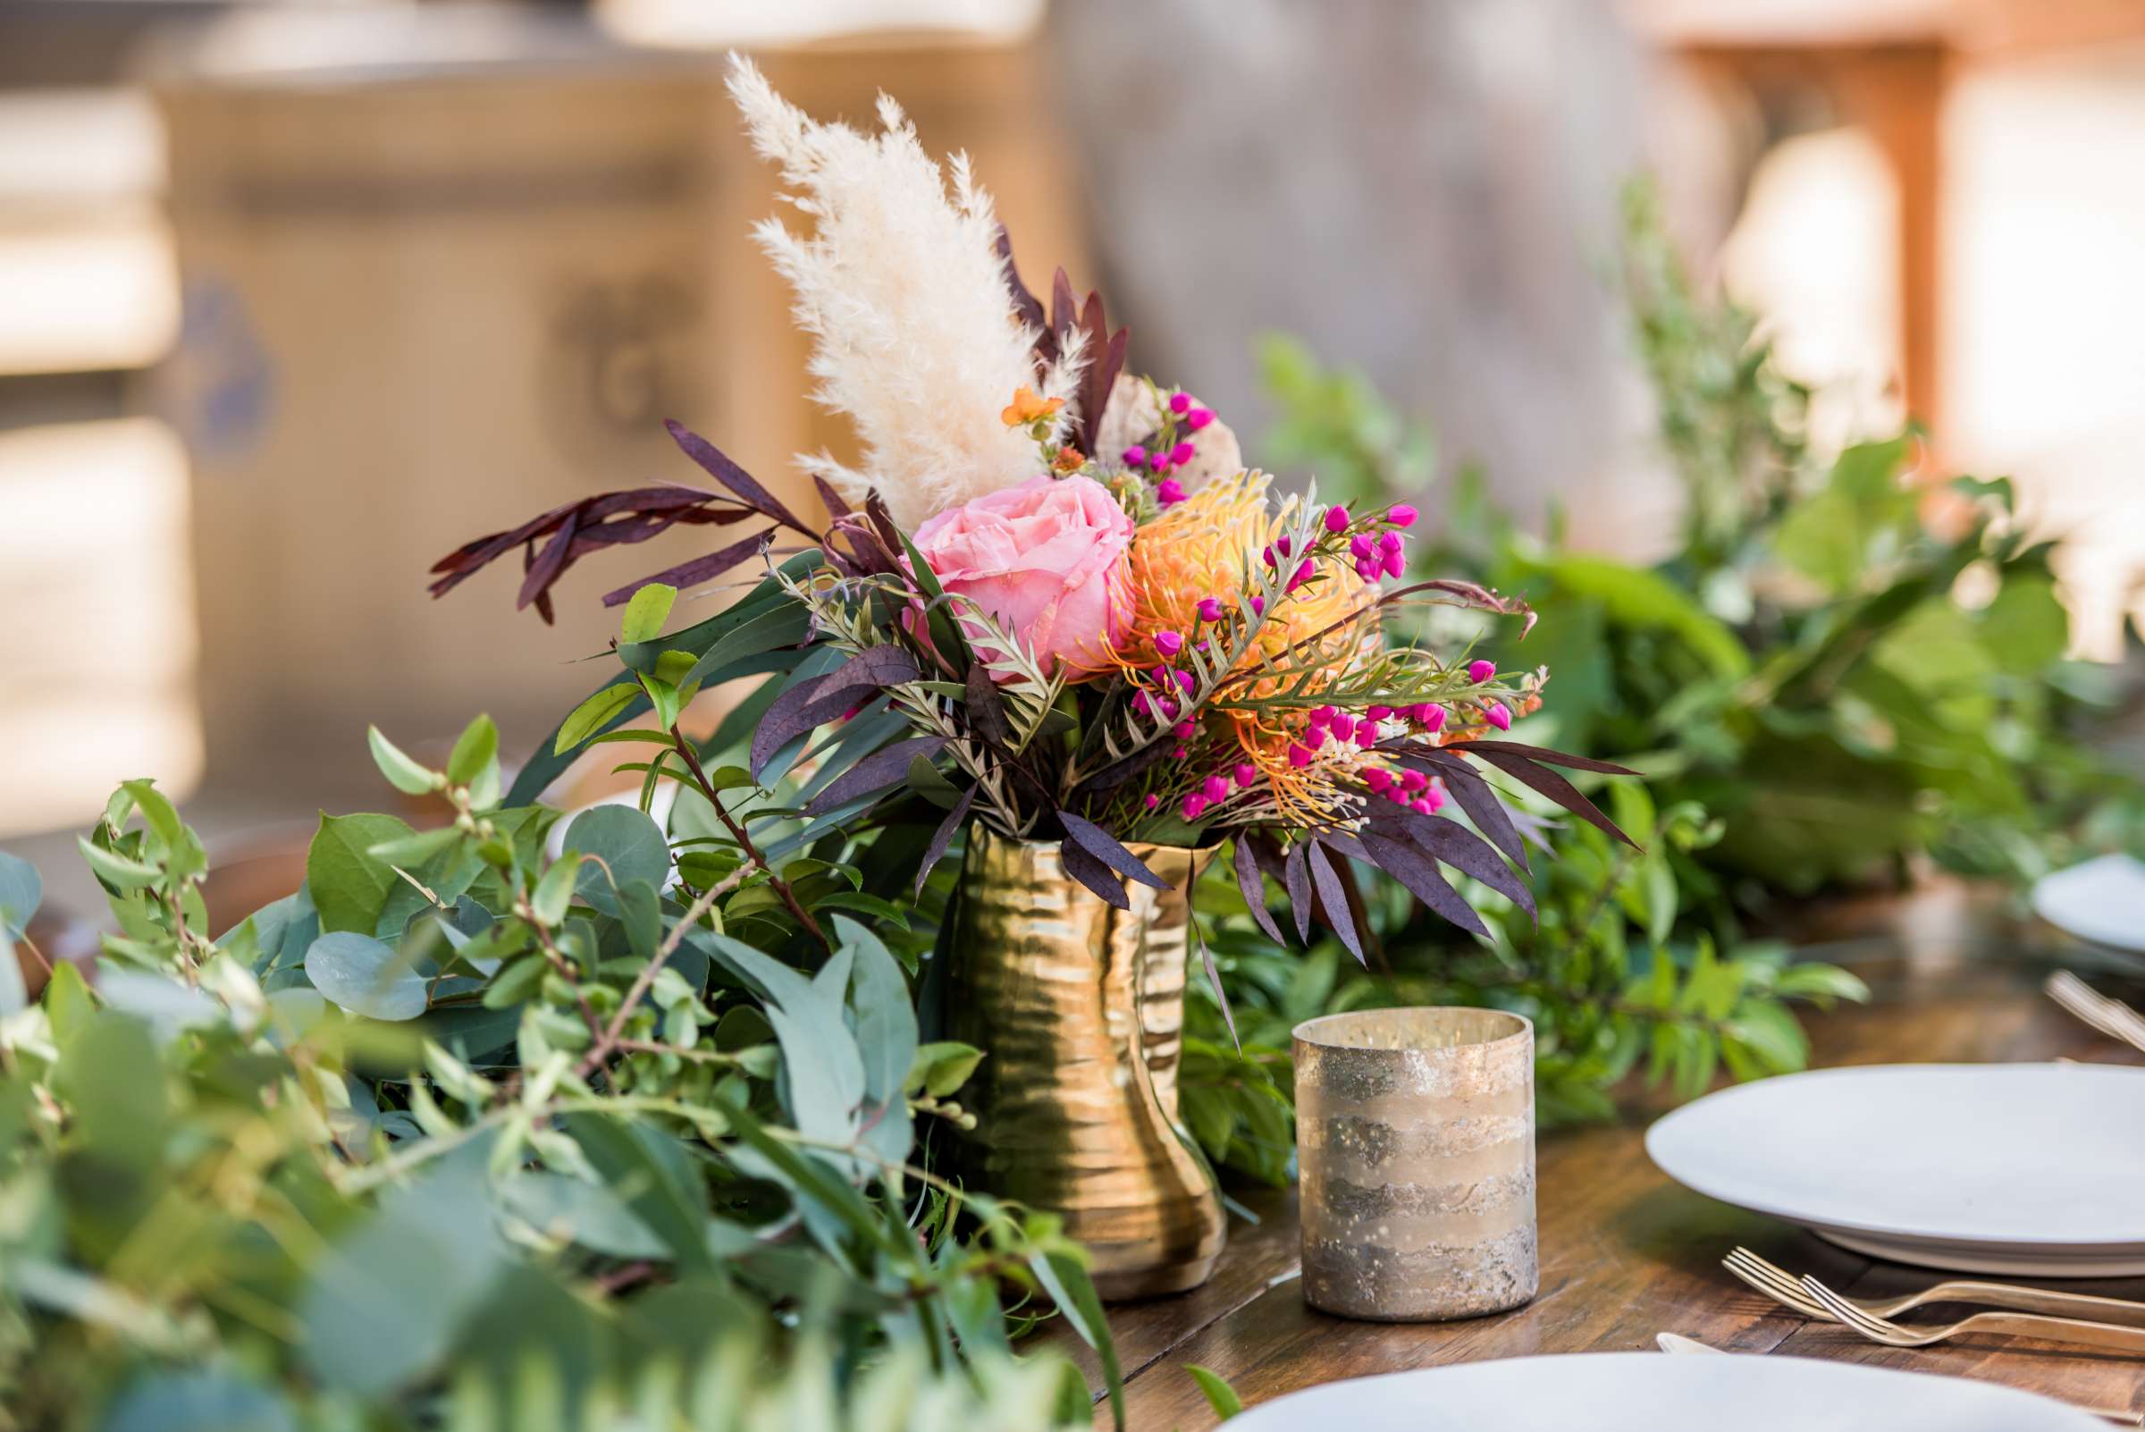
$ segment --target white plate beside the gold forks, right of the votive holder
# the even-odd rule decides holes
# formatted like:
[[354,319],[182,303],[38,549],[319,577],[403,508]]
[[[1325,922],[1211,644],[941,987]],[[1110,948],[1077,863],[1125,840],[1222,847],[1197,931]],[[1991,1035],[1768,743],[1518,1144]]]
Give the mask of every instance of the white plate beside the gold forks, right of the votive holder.
[[1645,1134],[1710,1198],[1926,1267],[2145,1271],[2145,1070],[1903,1063],[1710,1093]]

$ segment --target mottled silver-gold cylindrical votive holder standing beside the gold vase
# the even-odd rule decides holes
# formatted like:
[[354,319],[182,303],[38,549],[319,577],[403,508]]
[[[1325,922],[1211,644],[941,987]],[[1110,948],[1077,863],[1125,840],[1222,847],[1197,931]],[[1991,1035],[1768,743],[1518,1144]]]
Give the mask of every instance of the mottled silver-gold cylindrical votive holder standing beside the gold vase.
[[1313,1308],[1429,1323],[1534,1297],[1534,1025],[1519,1014],[1304,1020],[1296,1147]]

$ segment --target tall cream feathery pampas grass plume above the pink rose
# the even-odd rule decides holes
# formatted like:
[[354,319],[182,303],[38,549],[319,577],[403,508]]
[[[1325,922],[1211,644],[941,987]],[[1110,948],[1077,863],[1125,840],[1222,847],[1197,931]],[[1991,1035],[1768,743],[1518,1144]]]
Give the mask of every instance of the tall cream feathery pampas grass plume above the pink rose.
[[1000,409],[1015,388],[1062,397],[1072,416],[1081,347],[1036,379],[1036,332],[1012,313],[997,255],[991,195],[965,154],[948,178],[916,141],[916,126],[879,96],[882,133],[822,124],[785,101],[749,60],[729,56],[729,94],[753,148],[776,161],[783,195],[813,219],[792,234],[779,219],[753,227],[796,292],[796,322],[813,337],[813,397],[847,414],[864,444],[862,472],[826,454],[800,465],[862,499],[875,487],[888,512],[922,519],[1040,472],[1025,429]]

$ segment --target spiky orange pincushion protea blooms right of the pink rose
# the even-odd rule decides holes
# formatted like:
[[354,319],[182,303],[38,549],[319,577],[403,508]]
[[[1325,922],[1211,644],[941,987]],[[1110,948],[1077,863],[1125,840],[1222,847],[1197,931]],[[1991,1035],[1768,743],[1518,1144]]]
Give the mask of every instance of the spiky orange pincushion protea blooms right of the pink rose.
[[[1188,637],[1199,622],[1203,598],[1218,598],[1233,617],[1238,594],[1246,585],[1246,568],[1261,562],[1261,551],[1283,532],[1293,508],[1296,497],[1289,497],[1278,510],[1270,510],[1268,476],[1240,472],[1203,484],[1143,525],[1133,540],[1128,566],[1133,620],[1118,645],[1118,662],[1128,671],[1163,665],[1156,637],[1160,632]],[[1358,620],[1349,622],[1351,615]],[[1336,630],[1326,630],[1330,626]],[[1313,637],[1317,639],[1311,641]],[[1298,647],[1306,641],[1311,645]],[[1326,667],[1330,677],[1311,680],[1311,690],[1323,690],[1377,645],[1373,587],[1345,562],[1319,562],[1311,581],[1274,598],[1257,641],[1238,660],[1238,669],[1257,669],[1261,660],[1272,660],[1291,673],[1293,684],[1293,675],[1306,667]],[[1227,688],[1223,699],[1270,697],[1281,686],[1276,677],[1246,680]],[[1330,763],[1336,746],[1328,746],[1311,765],[1296,765],[1289,759],[1289,748],[1311,725],[1308,712],[1225,714],[1236,727],[1242,759],[1259,767],[1272,785],[1283,819],[1306,821],[1326,810],[1330,802],[1317,795],[1326,785],[1317,767]]]

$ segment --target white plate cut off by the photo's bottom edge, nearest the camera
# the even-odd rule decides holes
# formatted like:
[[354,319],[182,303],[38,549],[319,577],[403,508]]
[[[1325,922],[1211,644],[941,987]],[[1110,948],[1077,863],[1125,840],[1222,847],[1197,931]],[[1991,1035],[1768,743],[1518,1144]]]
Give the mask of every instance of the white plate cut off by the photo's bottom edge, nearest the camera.
[[1229,1432],[2104,1432],[2014,1387],[1808,1357],[1583,1353],[1420,1368],[1274,1398]]

